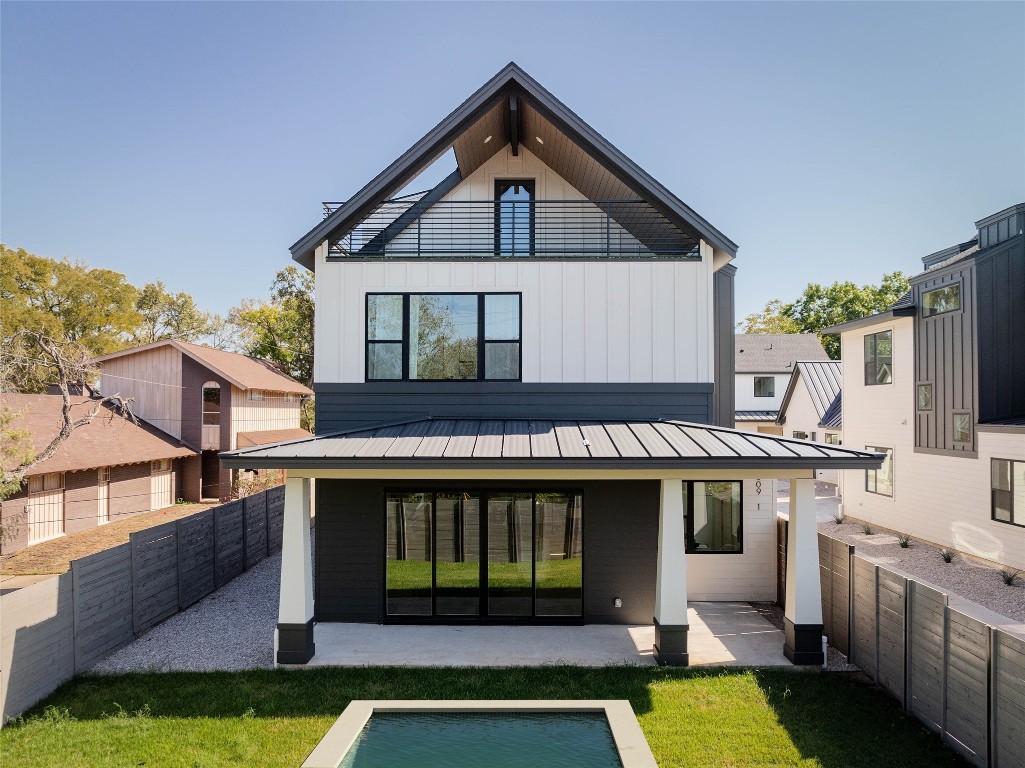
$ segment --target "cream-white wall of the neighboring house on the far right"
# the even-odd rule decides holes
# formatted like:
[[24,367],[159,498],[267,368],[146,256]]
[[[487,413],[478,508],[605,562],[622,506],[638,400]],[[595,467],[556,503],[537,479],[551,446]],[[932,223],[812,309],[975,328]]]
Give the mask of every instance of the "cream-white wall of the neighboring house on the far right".
[[[887,329],[894,331],[893,382],[866,386],[863,338]],[[845,513],[913,538],[1025,568],[1025,527],[992,520],[990,491],[991,459],[1025,461],[1025,437],[980,430],[975,458],[916,453],[912,343],[912,318],[895,318],[842,336],[844,443],[855,449],[894,449],[893,496],[866,491],[864,471],[845,471]]]

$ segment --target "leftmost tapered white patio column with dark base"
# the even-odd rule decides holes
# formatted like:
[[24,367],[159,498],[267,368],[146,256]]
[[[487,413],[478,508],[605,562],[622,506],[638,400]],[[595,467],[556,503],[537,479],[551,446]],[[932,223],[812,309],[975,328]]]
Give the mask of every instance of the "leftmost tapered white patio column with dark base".
[[304,664],[314,655],[314,571],[310,545],[310,480],[285,480],[281,592],[275,659]]

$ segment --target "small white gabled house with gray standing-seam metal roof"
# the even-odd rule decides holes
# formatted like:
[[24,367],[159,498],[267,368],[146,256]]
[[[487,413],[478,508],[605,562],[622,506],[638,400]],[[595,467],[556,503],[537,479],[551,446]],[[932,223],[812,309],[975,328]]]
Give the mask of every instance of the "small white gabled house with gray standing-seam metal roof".
[[[795,440],[843,444],[843,366],[838,360],[798,361],[786,385],[776,423]],[[837,485],[837,470],[822,470],[818,480]]]

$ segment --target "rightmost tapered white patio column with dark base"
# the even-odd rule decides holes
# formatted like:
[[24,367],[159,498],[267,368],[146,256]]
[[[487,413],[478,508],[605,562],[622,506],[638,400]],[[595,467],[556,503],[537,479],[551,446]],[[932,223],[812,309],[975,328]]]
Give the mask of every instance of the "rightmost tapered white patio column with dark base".
[[815,520],[815,481],[790,479],[786,529],[783,653],[795,664],[822,664],[822,595]]

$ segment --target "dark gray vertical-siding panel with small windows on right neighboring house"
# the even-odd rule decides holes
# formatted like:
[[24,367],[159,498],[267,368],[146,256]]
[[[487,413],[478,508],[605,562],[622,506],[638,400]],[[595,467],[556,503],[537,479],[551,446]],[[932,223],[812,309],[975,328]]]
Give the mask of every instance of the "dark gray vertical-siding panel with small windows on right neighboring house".
[[[933,408],[915,409],[914,445],[930,451],[972,455],[976,450],[974,425],[978,417],[976,398],[975,261],[966,259],[945,269],[927,272],[912,281],[914,305],[914,379],[933,385]],[[945,285],[960,283],[959,310],[925,318],[921,295]],[[894,365],[900,365],[899,356]],[[912,395],[912,397],[916,397]],[[971,441],[954,443],[953,415],[968,413],[973,425]]]

